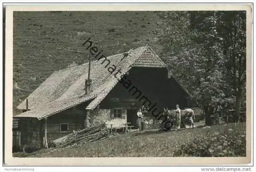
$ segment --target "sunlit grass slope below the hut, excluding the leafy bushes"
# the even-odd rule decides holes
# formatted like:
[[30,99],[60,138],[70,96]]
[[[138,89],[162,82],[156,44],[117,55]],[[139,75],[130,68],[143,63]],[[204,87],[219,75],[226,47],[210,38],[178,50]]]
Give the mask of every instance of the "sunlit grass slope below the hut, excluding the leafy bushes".
[[[225,132],[233,129],[239,133],[246,131],[245,123],[212,126],[172,132],[144,132],[119,135],[82,146],[65,149],[40,150],[29,157],[170,157],[181,144],[193,138],[206,137],[208,132]],[[15,155],[15,154],[14,154]]]

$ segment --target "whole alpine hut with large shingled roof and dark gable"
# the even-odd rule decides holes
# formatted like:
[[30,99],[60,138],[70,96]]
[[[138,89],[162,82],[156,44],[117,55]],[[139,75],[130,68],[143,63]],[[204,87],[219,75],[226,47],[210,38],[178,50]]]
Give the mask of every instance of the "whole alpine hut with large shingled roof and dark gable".
[[18,119],[20,144],[40,147],[46,133],[53,141],[97,122],[135,126],[142,105],[150,107],[153,116],[164,106],[188,106],[188,92],[151,47],[96,59],[53,72],[17,106],[23,110],[13,116]]

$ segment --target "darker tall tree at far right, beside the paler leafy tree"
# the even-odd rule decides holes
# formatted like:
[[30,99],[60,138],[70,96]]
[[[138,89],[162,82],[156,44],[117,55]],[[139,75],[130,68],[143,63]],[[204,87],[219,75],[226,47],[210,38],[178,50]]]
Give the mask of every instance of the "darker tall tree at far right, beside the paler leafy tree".
[[221,59],[217,63],[223,67],[226,88],[236,99],[238,119],[246,83],[246,12],[193,12],[190,21],[193,21],[191,28],[201,32],[195,40],[207,52],[216,51]]

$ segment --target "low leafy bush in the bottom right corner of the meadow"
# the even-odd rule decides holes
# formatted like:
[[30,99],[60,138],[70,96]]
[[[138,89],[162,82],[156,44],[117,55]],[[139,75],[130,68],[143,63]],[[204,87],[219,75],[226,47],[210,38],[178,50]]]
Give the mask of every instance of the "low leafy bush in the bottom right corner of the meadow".
[[210,132],[203,138],[182,144],[174,156],[194,157],[243,157],[246,156],[245,131],[229,129],[223,133]]

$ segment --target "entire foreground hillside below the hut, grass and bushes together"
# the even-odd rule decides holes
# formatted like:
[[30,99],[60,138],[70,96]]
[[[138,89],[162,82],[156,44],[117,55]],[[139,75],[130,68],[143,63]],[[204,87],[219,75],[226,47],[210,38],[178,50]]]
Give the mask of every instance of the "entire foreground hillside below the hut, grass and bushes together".
[[[246,125],[240,123],[182,131],[145,131],[119,135],[79,146],[40,150],[28,157],[178,157],[245,156]],[[195,144],[195,141],[197,143]]]

